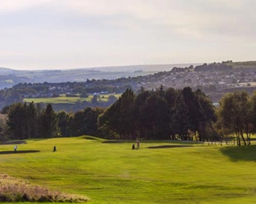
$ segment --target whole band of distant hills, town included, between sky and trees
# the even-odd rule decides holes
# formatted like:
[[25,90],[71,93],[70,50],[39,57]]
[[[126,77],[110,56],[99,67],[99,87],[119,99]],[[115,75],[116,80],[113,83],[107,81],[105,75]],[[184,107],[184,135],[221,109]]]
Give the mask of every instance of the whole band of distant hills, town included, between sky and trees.
[[[24,98],[52,98],[58,95],[82,93],[120,94],[127,88],[138,93],[141,87],[144,90],[155,90],[161,85],[165,88],[183,89],[189,86],[193,90],[201,89],[214,103],[217,103],[227,92],[245,90],[251,94],[256,90],[254,64],[256,65],[256,62],[226,61],[189,65],[184,68],[177,66],[168,68],[172,67],[170,65],[123,66],[123,70],[126,71],[114,71],[117,67],[100,67],[98,68],[100,70],[81,68],[17,72],[4,68],[3,71],[13,71],[13,73],[0,75],[0,85],[16,85],[2,90],[0,107],[15,101],[23,101]],[[148,71],[155,68],[163,70]],[[83,109],[88,104],[81,104],[80,101],[80,104],[75,105]]]

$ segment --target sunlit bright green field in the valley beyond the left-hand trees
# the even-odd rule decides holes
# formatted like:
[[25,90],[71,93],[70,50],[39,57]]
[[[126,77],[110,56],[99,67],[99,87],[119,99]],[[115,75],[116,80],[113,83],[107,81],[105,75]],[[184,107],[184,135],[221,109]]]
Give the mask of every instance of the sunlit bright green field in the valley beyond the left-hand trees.
[[[120,96],[120,94],[101,94],[98,97],[98,100],[101,101],[108,101],[108,97],[110,95],[114,95],[117,98]],[[34,103],[45,103],[45,104],[75,104],[77,101],[91,101],[93,98],[93,95],[89,95],[87,98],[81,98],[81,97],[66,97],[66,96],[59,96],[59,97],[50,97],[50,98],[24,98],[24,101],[32,102]]]

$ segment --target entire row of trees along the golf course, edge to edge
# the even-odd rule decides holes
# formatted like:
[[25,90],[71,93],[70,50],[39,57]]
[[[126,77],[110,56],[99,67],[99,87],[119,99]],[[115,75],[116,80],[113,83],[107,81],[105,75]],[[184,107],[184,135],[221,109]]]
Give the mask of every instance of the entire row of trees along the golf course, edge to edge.
[[[2,110],[0,132],[5,139],[93,135],[106,139],[235,140],[249,145],[256,132],[256,92],[224,95],[218,108],[201,91],[163,86],[127,89],[108,108],[76,113],[55,112],[49,104],[16,103]],[[6,125],[2,121],[6,120]]]

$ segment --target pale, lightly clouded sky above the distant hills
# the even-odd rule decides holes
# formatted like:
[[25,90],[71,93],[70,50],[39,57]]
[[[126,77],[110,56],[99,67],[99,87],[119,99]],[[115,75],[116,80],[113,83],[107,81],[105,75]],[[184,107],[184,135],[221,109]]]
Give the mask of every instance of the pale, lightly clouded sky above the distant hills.
[[254,0],[0,0],[0,67],[256,60]]

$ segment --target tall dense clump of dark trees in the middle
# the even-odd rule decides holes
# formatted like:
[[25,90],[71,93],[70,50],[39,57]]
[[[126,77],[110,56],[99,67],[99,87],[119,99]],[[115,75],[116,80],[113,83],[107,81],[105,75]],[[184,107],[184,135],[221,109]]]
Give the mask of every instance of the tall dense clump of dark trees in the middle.
[[214,106],[202,91],[161,86],[155,91],[142,88],[138,95],[127,89],[99,115],[98,126],[110,138],[203,141],[214,137],[207,129],[215,121]]

